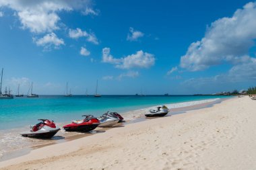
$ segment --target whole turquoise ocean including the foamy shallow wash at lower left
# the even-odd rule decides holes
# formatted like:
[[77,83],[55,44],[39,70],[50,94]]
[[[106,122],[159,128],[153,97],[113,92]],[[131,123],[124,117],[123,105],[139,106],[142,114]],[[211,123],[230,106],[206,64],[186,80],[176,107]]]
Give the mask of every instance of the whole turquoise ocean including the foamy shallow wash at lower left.
[[[91,114],[96,117],[107,111],[119,114],[139,114],[133,110],[150,108],[155,105],[170,105],[172,108],[182,108],[209,101],[218,101],[228,96],[217,95],[40,95],[38,98],[15,97],[0,100],[0,161],[12,157],[20,150],[31,150],[32,147],[51,142],[63,142],[65,138],[75,133],[61,129],[51,140],[24,138],[20,132],[28,131],[29,126],[38,123],[38,119],[54,120],[62,127],[72,120],[81,120],[82,115]],[[130,116],[131,118],[136,116]],[[17,152],[18,151],[18,152]]]

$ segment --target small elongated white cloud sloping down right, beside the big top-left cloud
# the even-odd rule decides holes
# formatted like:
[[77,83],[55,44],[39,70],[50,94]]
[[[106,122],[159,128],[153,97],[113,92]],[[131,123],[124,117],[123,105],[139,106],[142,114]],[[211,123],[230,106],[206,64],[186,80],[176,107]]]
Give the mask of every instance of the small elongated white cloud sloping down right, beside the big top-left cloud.
[[69,29],[69,37],[70,38],[81,38],[85,37],[88,42],[92,42],[93,44],[98,44],[98,39],[94,35],[94,33],[88,33],[86,31],[82,31],[80,28],[76,30]]

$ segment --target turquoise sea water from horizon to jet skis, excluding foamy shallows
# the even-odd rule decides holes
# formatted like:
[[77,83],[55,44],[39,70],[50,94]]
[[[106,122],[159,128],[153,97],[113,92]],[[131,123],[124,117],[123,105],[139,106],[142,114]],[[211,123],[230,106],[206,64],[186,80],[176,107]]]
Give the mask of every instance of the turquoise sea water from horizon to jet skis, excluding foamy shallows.
[[84,114],[100,116],[106,111],[127,112],[164,103],[179,103],[203,99],[224,98],[212,95],[103,95],[102,97],[74,95],[41,95],[38,98],[16,97],[0,100],[0,130],[28,126],[39,118],[69,122]]

